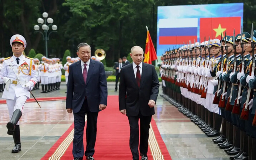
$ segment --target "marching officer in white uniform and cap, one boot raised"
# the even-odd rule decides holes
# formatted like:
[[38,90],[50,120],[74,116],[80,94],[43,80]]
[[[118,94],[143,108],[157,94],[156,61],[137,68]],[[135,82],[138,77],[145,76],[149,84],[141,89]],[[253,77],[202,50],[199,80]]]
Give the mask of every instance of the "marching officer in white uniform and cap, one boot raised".
[[5,58],[0,72],[0,81],[6,84],[2,98],[6,99],[10,121],[6,127],[8,135],[13,135],[14,148],[12,153],[21,151],[19,120],[30,90],[37,83],[35,66],[32,58],[22,54],[26,47],[23,36],[16,34],[11,37],[10,45],[13,56]]

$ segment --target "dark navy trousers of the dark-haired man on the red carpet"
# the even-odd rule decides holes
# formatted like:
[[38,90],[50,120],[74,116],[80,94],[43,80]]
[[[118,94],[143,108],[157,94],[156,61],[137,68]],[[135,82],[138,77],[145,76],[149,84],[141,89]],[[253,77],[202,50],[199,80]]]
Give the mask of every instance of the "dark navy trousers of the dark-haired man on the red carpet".
[[[86,126],[86,151],[83,149],[83,130],[85,126],[85,115],[87,115]],[[74,139],[73,139],[73,156],[83,159],[85,156],[93,156],[95,150],[95,141],[97,133],[98,112],[90,112],[87,100],[84,100],[83,106],[78,113],[74,113]]]

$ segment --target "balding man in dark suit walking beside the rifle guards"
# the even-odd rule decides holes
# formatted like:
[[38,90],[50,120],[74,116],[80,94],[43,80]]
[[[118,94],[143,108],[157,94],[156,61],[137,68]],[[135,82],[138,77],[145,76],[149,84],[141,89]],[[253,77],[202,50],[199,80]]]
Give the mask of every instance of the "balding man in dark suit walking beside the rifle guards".
[[142,62],[143,53],[141,47],[132,47],[130,55],[133,62],[123,67],[120,73],[119,110],[128,116],[130,123],[130,149],[133,160],[139,160],[139,119],[141,160],[148,160],[149,128],[159,92],[155,67]]

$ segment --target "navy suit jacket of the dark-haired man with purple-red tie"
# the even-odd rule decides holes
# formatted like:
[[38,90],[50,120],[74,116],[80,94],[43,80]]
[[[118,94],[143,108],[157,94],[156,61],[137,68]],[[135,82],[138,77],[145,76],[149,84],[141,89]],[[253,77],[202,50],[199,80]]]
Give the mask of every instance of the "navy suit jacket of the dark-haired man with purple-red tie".
[[81,61],[69,66],[66,108],[80,111],[85,96],[91,112],[98,112],[99,105],[107,105],[107,79],[101,62],[90,60],[86,84],[83,80]]

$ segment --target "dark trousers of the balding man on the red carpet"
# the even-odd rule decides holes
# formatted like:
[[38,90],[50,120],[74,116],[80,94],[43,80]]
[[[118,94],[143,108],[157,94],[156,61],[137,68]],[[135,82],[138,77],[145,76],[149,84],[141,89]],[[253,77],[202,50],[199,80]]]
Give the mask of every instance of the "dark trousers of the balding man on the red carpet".
[[128,117],[130,123],[130,149],[132,159],[139,159],[139,119],[140,119],[140,153],[147,155],[149,141],[149,124],[152,116],[142,116],[139,113],[136,117]]

